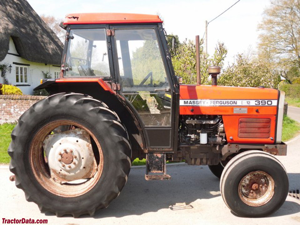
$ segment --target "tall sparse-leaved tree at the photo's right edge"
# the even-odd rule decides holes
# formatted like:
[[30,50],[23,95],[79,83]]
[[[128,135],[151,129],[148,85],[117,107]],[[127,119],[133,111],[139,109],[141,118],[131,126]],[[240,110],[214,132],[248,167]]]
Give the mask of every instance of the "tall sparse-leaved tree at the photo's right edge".
[[300,1],[273,0],[258,29],[259,58],[291,83],[300,69]]

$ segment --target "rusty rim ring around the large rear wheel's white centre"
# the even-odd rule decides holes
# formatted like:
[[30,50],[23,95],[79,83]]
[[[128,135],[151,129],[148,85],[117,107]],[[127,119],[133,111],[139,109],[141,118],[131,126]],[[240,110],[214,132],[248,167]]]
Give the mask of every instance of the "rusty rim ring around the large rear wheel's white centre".
[[[97,154],[99,154],[99,159],[97,162],[96,172],[93,174],[92,178],[86,179],[86,181],[82,183],[58,183],[51,177],[48,164],[45,161],[42,144],[46,136],[55,128],[64,125],[73,125],[87,132],[98,148]],[[70,120],[53,121],[40,128],[32,139],[29,154],[30,167],[39,185],[48,192],[61,197],[77,197],[89,192],[98,183],[103,171],[103,152],[99,141],[88,128]]]

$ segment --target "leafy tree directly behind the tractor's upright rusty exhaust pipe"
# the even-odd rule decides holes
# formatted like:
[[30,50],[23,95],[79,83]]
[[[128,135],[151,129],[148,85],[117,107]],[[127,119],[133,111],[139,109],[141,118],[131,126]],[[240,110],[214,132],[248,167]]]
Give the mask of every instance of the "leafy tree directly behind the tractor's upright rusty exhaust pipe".
[[[223,66],[223,61],[227,54],[224,43],[217,43],[214,54],[210,57],[203,52],[203,39],[200,45],[200,74],[201,84],[210,84],[207,68],[209,66]],[[183,41],[177,51],[177,55],[172,58],[175,74],[183,78],[185,84],[197,83],[196,77],[196,44],[192,40]]]

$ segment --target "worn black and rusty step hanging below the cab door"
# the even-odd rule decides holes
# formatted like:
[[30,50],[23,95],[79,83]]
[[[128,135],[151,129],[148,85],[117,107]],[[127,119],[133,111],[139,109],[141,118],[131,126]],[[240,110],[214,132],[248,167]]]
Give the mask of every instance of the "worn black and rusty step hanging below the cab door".
[[166,154],[147,153],[146,154],[146,180],[169,180],[171,176],[167,174]]

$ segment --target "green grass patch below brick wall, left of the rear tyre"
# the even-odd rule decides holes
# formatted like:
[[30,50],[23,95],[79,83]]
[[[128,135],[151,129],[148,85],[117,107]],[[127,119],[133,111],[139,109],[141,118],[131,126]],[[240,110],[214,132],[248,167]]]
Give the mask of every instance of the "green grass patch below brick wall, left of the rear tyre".
[[4,123],[0,125],[0,163],[9,163],[10,157],[7,153],[8,145],[12,140],[10,134],[16,124]]

